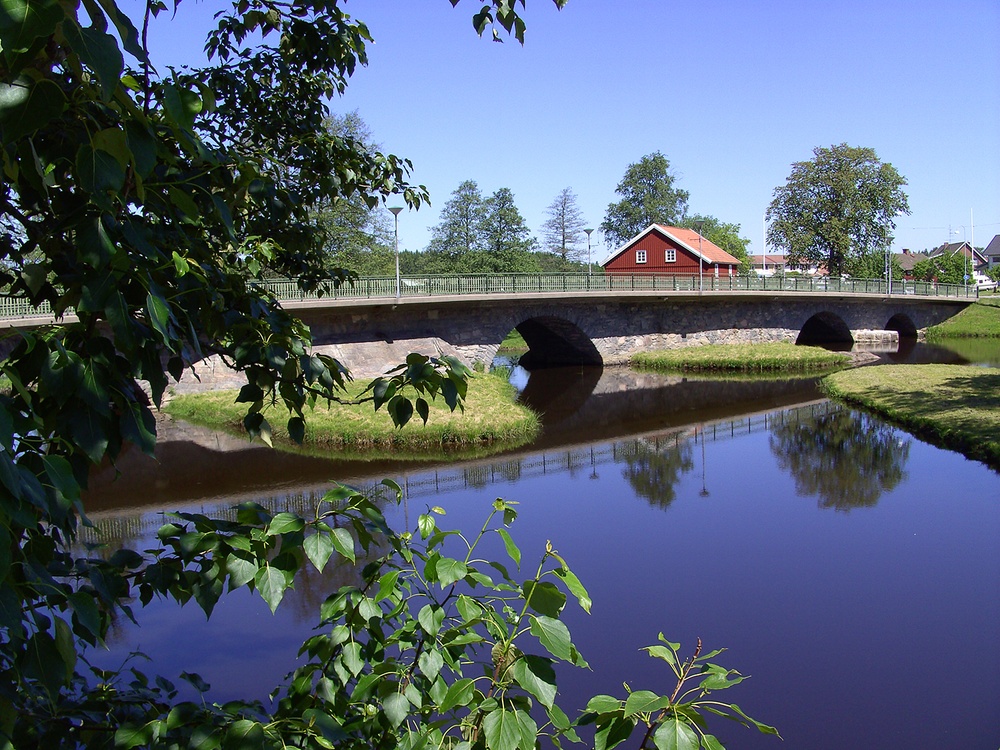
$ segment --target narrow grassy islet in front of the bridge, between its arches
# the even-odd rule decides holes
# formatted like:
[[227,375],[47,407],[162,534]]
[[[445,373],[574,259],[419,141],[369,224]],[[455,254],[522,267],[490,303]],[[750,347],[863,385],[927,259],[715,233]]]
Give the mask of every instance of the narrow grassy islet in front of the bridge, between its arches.
[[850,357],[787,342],[711,344],[639,352],[632,366],[674,372],[802,372],[846,365]]

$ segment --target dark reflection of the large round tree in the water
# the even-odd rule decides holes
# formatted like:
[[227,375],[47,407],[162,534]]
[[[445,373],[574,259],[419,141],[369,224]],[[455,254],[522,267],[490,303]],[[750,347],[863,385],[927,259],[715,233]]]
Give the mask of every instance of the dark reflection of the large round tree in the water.
[[821,508],[874,506],[906,476],[908,438],[867,414],[843,409],[771,428],[771,452],[800,495]]

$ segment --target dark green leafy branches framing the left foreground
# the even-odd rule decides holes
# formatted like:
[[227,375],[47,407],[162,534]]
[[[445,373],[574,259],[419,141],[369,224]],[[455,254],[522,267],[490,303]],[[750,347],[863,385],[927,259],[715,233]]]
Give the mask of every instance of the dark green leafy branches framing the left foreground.
[[[154,0],[144,21],[166,10]],[[236,521],[180,514],[143,553],[73,546],[90,469],[128,444],[152,452],[168,376],[203,355],[245,374],[252,434],[268,438],[264,410],[278,404],[301,437],[309,407],[340,398],[348,374],[311,351],[308,329],[259,280],[343,283],[317,209],[427,197],[407,182],[409,162],[324,125],[325,100],[371,41],[336,0],[241,1],[216,20],[213,64],[159,75],[113,0],[0,5],[0,283],[56,314],[5,342],[0,362],[10,384],[0,394],[0,746],[416,750],[447,737],[527,750],[539,732],[572,739],[551,667],[583,664],[558,616],[570,596],[589,599],[551,548],[519,581],[474,559],[478,539],[452,557],[445,545],[462,537],[429,515],[422,544],[393,534],[347,489],[309,518],[254,505]],[[517,2],[487,3],[474,24],[523,38]],[[403,424],[426,416],[427,398],[459,407],[467,376],[454,360],[413,355],[369,398]],[[507,504],[495,512],[512,520]],[[179,702],[163,677],[86,663],[114,617],[134,618],[136,599],[211,615],[248,587],[274,609],[303,565],[357,561],[359,547],[388,552],[364,567],[362,586],[324,604],[305,666],[273,710]],[[541,728],[534,700],[549,717]]]

